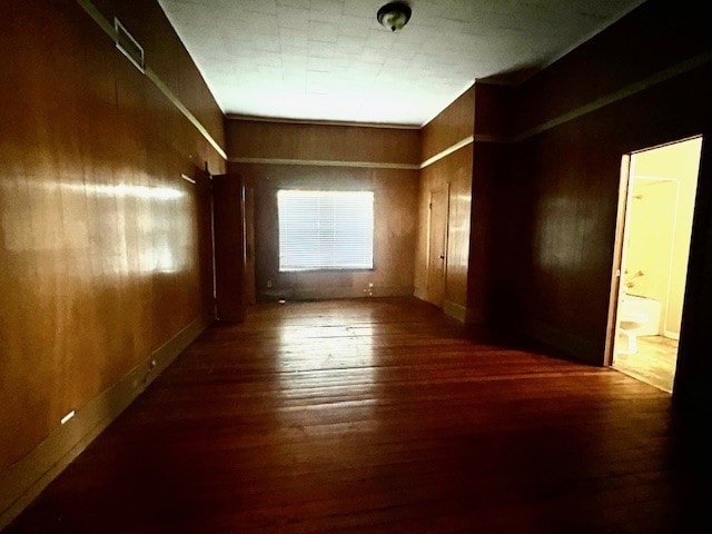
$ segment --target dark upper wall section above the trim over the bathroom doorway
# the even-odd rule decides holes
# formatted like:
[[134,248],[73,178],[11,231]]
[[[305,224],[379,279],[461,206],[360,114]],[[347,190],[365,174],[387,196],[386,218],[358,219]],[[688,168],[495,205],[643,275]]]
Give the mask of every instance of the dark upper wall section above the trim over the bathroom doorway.
[[[517,88],[513,117],[530,131],[709,53],[710,8],[647,0]],[[664,72],[666,69],[670,72]]]

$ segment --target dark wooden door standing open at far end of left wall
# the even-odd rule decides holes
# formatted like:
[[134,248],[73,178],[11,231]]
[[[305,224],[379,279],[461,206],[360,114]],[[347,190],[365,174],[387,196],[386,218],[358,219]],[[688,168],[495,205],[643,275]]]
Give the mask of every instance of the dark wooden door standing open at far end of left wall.
[[238,175],[212,177],[215,300],[219,322],[245,320],[245,185]]

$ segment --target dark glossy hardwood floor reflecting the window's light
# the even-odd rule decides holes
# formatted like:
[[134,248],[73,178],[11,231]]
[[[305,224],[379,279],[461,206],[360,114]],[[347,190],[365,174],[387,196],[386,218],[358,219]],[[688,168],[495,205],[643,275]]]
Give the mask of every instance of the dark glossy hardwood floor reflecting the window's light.
[[8,533],[711,532],[670,395],[415,299],[207,330]]

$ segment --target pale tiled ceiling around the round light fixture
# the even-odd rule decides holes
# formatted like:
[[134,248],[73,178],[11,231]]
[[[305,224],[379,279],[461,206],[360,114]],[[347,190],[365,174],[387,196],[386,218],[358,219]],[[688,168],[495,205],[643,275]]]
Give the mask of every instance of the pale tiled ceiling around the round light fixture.
[[[520,81],[641,0],[158,0],[226,113],[421,126],[475,79]],[[150,61],[150,58],[147,58]]]

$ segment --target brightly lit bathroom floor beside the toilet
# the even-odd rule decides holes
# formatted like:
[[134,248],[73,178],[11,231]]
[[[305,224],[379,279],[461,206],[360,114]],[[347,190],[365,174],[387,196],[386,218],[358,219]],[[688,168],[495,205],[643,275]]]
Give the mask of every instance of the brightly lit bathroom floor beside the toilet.
[[[624,336],[616,346],[626,348]],[[671,393],[678,360],[678,340],[663,336],[640,336],[635,354],[616,352],[613,368]]]

